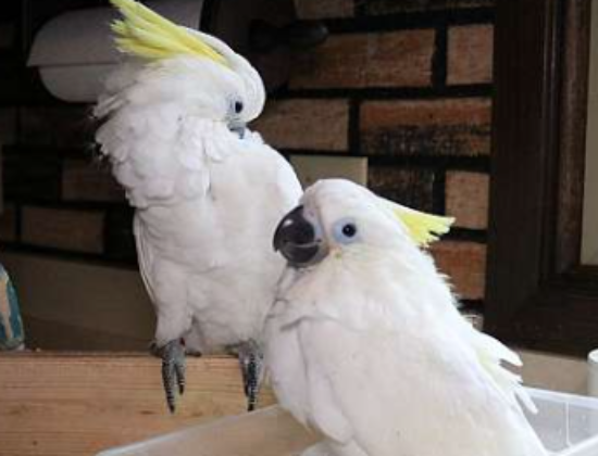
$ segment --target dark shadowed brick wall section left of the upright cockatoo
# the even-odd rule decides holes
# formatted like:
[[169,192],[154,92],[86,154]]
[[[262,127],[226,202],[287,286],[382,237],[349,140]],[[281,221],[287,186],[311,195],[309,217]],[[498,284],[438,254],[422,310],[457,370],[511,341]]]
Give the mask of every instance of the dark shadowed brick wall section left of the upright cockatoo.
[[32,36],[49,17],[104,0],[0,5],[2,251],[134,266],[132,211],[92,153],[89,106],[52,99],[27,68]]

